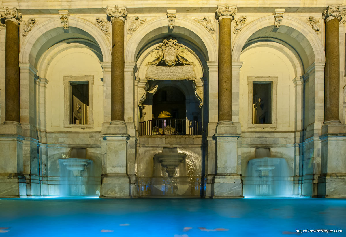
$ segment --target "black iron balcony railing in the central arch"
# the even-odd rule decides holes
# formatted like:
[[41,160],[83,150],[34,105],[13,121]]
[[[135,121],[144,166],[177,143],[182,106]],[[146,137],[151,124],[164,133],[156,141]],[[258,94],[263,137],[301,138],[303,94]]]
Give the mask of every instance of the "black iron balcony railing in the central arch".
[[202,135],[202,124],[188,119],[147,120],[139,123],[139,135]]

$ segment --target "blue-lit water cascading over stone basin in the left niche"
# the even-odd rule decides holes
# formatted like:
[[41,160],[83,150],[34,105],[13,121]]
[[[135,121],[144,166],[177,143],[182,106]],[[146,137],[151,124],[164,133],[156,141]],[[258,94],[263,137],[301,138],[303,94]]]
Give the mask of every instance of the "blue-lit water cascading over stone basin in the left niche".
[[[60,195],[90,195],[87,189],[88,177],[93,173],[93,162],[85,158],[85,148],[72,148],[73,158],[59,159]],[[76,157],[76,158],[75,158]]]

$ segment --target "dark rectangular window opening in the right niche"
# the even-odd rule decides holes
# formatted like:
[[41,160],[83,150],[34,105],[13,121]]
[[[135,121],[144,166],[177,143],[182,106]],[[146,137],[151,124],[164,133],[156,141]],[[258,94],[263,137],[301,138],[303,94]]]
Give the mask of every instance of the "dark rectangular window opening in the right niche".
[[252,99],[252,123],[272,124],[272,82],[253,82]]

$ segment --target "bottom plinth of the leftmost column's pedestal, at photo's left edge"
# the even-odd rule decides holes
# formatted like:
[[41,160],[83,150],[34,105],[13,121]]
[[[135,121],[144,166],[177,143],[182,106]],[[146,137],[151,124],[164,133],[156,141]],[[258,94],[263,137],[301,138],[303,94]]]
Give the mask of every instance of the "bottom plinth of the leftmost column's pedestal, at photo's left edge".
[[0,174],[0,198],[26,197],[25,176],[17,173]]

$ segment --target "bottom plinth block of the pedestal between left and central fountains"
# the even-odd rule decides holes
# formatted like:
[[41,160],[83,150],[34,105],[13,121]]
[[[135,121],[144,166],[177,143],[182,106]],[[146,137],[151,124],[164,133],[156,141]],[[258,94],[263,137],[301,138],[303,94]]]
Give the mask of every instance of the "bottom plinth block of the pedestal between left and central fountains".
[[130,198],[130,185],[127,174],[102,175],[99,198]]

